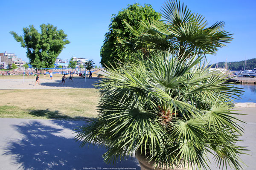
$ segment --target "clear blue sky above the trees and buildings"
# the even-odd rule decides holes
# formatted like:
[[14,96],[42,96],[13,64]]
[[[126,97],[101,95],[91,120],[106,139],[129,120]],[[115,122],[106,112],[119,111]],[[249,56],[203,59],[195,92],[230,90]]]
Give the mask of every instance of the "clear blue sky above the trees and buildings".
[[[84,57],[100,65],[99,51],[108,31],[111,15],[118,14],[128,4],[151,4],[160,12],[166,0],[1,0],[0,52],[15,53],[26,62],[26,49],[20,47],[9,31],[22,35],[23,27],[34,25],[40,31],[42,23],[63,29],[70,44],[59,58]],[[183,0],[192,12],[202,14],[209,25],[224,21],[225,30],[234,40],[220,48],[215,56],[207,56],[210,63],[241,61],[256,58],[255,0]]]

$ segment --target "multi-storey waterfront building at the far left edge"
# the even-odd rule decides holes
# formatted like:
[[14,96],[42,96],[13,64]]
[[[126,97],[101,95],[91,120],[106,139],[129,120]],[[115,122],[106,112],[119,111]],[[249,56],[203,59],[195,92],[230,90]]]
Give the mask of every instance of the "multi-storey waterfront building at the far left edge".
[[23,69],[23,65],[26,64],[21,58],[15,56],[14,53],[0,53],[0,68],[11,68],[12,64],[14,63],[17,65],[18,69]]

